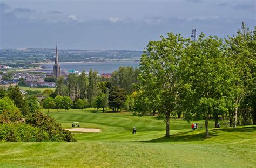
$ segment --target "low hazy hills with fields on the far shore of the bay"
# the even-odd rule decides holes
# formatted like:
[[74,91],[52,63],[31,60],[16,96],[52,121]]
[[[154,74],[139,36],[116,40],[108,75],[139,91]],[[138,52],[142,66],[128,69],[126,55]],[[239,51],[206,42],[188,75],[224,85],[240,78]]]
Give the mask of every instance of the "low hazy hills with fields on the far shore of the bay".
[[[138,61],[142,51],[130,50],[58,50],[60,62],[81,61]],[[0,62],[38,63],[55,59],[55,49],[1,49]]]

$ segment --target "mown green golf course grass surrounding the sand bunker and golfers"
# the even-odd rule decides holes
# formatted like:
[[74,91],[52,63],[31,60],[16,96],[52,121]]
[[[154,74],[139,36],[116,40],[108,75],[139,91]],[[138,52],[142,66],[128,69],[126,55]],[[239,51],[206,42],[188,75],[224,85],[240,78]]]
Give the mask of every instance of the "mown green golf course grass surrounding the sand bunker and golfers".
[[[2,167],[255,167],[256,127],[191,131],[180,119],[171,120],[171,137],[164,138],[165,123],[153,116],[129,113],[95,113],[87,110],[53,110],[49,115],[71,128],[102,132],[73,133],[76,143],[0,143]],[[200,125],[204,121],[194,121]],[[132,134],[136,125],[137,133]]]

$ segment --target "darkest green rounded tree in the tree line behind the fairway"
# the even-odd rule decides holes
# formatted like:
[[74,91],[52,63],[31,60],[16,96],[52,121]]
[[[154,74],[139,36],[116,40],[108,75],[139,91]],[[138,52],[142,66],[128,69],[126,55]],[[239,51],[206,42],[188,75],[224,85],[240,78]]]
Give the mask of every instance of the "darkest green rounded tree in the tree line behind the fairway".
[[113,86],[109,93],[109,107],[113,111],[122,109],[126,100],[125,90],[117,86]]

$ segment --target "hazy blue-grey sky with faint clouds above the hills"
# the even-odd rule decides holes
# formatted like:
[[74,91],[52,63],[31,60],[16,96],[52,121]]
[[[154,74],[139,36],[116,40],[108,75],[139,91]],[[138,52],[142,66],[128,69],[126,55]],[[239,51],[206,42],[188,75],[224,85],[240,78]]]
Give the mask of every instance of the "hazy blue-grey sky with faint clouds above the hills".
[[138,50],[168,32],[232,36],[254,0],[0,0],[0,48]]

